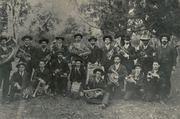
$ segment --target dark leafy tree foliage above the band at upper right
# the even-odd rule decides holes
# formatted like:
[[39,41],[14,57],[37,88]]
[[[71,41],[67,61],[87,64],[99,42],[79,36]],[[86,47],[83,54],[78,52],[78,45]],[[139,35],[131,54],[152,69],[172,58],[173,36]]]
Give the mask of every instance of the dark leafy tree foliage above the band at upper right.
[[87,20],[95,19],[104,34],[110,32],[115,37],[144,30],[179,35],[178,0],[93,0],[80,11]]

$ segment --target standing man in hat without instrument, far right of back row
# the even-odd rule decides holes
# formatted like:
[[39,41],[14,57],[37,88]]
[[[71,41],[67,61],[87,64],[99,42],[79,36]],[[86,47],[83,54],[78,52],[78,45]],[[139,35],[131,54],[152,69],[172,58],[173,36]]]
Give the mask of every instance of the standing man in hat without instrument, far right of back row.
[[166,99],[171,91],[171,74],[175,70],[177,51],[176,48],[170,46],[168,43],[170,41],[170,36],[167,34],[162,34],[160,37],[161,46],[157,49],[157,57],[160,64],[160,71],[165,74],[164,83],[161,88],[164,90],[163,98]]

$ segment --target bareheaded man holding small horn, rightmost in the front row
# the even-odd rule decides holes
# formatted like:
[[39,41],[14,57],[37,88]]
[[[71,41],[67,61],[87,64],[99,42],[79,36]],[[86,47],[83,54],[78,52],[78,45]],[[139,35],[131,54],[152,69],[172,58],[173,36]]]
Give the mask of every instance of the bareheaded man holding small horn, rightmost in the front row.
[[159,63],[153,62],[152,70],[147,73],[145,80],[145,101],[154,101],[159,93],[160,81],[163,81],[163,73],[159,71]]

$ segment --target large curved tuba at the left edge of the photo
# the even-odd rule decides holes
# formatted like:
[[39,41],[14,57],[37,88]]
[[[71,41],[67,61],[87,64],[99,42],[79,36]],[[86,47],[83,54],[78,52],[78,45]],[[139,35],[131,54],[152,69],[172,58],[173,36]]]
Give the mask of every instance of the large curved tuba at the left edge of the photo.
[[0,65],[11,60],[18,50],[17,43],[12,38],[6,42],[6,47],[7,53],[4,54],[4,57],[0,59]]

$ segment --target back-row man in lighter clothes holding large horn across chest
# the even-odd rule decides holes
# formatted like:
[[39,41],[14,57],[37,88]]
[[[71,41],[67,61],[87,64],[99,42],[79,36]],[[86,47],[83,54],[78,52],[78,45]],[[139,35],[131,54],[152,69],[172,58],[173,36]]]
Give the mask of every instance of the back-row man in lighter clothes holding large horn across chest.
[[87,60],[88,55],[91,53],[88,46],[83,41],[83,36],[81,34],[75,34],[72,44],[69,46],[69,52],[77,56],[82,57],[84,60]]

